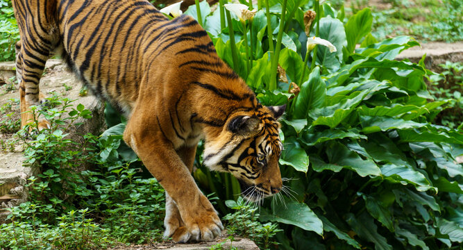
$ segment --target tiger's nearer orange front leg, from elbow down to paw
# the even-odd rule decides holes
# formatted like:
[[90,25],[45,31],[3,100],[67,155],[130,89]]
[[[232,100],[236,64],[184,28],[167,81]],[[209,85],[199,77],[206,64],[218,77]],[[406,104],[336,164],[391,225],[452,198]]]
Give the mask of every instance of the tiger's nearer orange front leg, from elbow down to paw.
[[[220,235],[224,226],[210,201],[194,182],[191,167],[187,167],[182,159],[185,156],[175,151],[158,124],[153,124],[157,117],[153,118],[149,119],[146,113],[139,115],[134,112],[124,131],[124,141],[140,156],[149,172],[169,194],[170,210],[166,213],[173,213],[167,214],[169,228],[166,228],[166,234],[175,242],[212,240]],[[194,156],[191,151],[189,154]],[[175,208],[178,208],[178,213]]]

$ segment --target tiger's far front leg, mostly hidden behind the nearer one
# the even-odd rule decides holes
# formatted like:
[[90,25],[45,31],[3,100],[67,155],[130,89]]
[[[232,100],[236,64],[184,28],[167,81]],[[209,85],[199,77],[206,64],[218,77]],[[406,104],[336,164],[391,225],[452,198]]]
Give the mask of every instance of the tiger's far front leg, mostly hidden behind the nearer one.
[[[196,154],[196,146],[194,147],[183,147],[177,150],[178,156],[182,159],[183,163],[188,167],[190,173],[193,169],[194,156]],[[180,235],[183,235],[187,230],[185,227],[185,222],[183,222],[180,212],[178,211],[177,204],[166,192],[166,217],[164,219],[164,237],[172,237],[176,239],[180,238]],[[186,241],[186,240],[185,240]]]

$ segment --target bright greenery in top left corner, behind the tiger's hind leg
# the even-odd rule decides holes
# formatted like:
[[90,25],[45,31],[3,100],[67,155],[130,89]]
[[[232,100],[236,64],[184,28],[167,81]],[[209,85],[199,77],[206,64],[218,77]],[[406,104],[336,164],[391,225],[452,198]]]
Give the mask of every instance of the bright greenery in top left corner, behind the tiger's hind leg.
[[19,40],[19,29],[11,0],[0,0],[0,61],[15,60],[15,44]]

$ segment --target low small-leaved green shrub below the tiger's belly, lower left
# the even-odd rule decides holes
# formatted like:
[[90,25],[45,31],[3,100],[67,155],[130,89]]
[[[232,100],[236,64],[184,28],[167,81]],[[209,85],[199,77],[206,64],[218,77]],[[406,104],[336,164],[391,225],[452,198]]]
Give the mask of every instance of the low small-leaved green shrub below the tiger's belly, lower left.
[[[52,129],[26,133],[35,121],[19,131],[26,163],[39,165],[42,174],[28,179],[30,201],[12,208],[12,222],[0,226],[0,248],[102,249],[159,240],[164,213],[159,183],[140,175],[137,158],[119,157],[120,137],[87,134],[83,144],[67,138],[79,117],[91,117],[81,104],[66,111],[71,102],[53,96],[47,107],[32,107]],[[93,168],[82,171],[83,164]]]

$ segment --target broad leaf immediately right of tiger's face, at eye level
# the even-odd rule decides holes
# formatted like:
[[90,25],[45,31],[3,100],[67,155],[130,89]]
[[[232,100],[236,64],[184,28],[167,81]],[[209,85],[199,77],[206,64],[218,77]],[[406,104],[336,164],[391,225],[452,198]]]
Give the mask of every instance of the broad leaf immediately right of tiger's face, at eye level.
[[289,165],[297,171],[306,173],[309,168],[309,156],[299,145],[296,138],[285,138],[285,149],[280,157],[281,165]]

